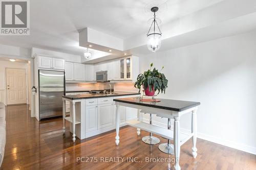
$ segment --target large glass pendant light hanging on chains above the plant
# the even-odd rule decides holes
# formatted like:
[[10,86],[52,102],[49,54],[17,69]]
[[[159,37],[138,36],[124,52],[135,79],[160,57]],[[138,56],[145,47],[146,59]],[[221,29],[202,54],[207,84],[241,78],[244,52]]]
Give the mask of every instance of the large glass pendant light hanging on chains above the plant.
[[[154,12],[154,17],[152,18],[153,21],[150,26],[150,30],[148,30],[147,36],[147,48],[152,52],[156,52],[161,45],[161,36],[162,33],[159,29],[157,19],[156,19],[156,12],[158,11],[158,7],[152,7],[151,11]],[[152,27],[153,26],[153,27]]]

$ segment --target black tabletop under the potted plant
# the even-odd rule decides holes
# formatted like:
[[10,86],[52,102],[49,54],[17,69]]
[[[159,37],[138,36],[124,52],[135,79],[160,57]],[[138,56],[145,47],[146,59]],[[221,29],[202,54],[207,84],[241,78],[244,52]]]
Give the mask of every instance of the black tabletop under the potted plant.
[[195,106],[200,105],[200,102],[188,102],[188,101],[178,101],[178,100],[169,100],[169,99],[159,99],[161,102],[140,102],[139,97],[135,98],[122,98],[114,99],[115,102],[129,103],[147,107],[154,107],[158,109],[172,110],[172,111],[183,111]]

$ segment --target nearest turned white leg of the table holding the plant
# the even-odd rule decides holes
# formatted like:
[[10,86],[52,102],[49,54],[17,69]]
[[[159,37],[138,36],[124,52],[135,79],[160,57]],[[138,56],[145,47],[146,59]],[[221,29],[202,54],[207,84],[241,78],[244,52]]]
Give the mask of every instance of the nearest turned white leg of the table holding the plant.
[[176,170],[180,170],[180,117],[174,117],[174,154]]

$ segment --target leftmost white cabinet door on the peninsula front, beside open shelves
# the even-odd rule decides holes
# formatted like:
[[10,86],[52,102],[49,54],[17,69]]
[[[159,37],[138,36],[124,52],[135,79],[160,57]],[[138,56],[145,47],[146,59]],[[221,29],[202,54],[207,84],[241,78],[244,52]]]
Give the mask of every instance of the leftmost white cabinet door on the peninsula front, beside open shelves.
[[86,106],[86,132],[98,129],[98,106]]

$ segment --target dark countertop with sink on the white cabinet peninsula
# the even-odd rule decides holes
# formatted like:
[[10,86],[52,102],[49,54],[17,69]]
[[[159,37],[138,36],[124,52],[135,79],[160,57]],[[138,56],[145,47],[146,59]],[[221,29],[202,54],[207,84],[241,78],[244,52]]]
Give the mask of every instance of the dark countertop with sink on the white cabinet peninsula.
[[115,91],[114,94],[77,94],[77,95],[63,95],[62,98],[66,98],[66,99],[70,99],[70,100],[78,100],[78,99],[90,99],[90,98],[108,98],[108,97],[113,97],[113,96],[135,95],[135,94],[140,94],[140,93]]

